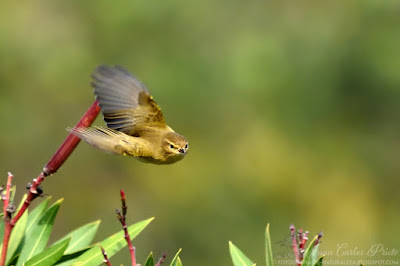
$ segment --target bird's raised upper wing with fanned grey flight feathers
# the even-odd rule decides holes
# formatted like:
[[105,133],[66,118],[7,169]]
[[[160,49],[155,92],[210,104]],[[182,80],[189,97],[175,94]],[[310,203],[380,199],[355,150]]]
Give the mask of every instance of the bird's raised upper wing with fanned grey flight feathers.
[[123,67],[99,66],[92,78],[94,94],[109,128],[139,136],[148,127],[168,127],[147,88]]

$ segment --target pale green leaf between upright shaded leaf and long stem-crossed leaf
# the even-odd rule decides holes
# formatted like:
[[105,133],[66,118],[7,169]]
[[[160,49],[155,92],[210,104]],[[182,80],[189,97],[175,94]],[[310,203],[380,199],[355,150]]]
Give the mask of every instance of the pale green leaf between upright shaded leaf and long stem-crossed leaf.
[[69,243],[65,253],[74,253],[75,251],[81,250],[90,245],[96,235],[97,229],[99,229],[100,222],[100,220],[97,220],[95,222],[85,224],[68,233],[66,236],[56,241],[53,245],[70,238],[71,242]]

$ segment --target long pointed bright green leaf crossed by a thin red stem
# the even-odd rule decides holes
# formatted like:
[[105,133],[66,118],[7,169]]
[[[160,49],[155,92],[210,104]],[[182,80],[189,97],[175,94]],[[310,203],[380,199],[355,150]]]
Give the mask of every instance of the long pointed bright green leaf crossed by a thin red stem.
[[[133,224],[128,227],[128,233],[131,239],[135,238],[146,226],[153,220],[154,218],[150,218],[136,224]],[[124,232],[119,230],[116,234],[108,237],[107,239],[100,242],[98,245],[92,247],[81,256],[79,256],[71,265],[99,265],[103,262],[103,254],[99,246],[102,246],[108,255],[108,258],[111,258],[115,253],[125,247],[126,240],[124,238]]]

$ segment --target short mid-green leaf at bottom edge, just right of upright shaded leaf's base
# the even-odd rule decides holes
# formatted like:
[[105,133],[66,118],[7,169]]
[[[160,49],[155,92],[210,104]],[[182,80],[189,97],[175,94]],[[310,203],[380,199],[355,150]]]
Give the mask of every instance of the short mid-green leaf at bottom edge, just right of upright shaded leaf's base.
[[25,263],[25,266],[51,266],[54,265],[64,254],[67,249],[70,239],[53,245],[50,248],[45,249],[41,253],[37,254]]

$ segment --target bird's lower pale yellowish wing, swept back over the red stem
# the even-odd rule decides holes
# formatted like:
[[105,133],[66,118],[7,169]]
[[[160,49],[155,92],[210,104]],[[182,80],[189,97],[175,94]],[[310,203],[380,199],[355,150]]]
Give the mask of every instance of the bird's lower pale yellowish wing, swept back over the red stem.
[[106,127],[68,128],[83,141],[100,150],[114,153],[131,155],[135,157],[151,157],[151,149],[141,138],[128,136],[122,132]]

